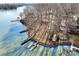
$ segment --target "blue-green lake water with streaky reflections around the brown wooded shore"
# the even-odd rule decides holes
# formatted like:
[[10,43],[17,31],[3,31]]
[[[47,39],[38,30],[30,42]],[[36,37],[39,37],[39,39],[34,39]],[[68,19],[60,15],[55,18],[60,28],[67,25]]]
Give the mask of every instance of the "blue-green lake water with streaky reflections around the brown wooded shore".
[[[69,49],[70,46],[44,47],[39,45],[32,50],[30,47],[35,42],[29,41],[24,45],[21,43],[28,38],[28,33],[19,33],[26,29],[20,22],[11,22],[16,20],[16,10],[0,10],[0,55],[2,56],[52,56],[60,55],[63,48]],[[72,55],[79,55],[73,51]]]

